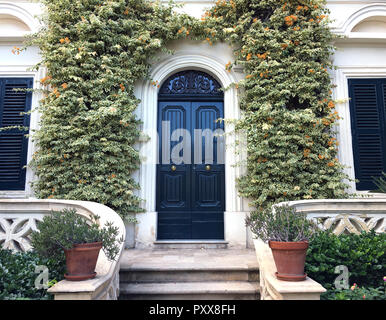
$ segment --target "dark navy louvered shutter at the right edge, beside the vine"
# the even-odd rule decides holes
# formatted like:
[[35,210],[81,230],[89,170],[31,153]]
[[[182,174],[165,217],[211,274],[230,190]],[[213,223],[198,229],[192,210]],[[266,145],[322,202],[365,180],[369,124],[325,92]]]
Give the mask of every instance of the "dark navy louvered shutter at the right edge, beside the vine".
[[351,79],[349,90],[357,190],[374,190],[386,171],[386,79]]

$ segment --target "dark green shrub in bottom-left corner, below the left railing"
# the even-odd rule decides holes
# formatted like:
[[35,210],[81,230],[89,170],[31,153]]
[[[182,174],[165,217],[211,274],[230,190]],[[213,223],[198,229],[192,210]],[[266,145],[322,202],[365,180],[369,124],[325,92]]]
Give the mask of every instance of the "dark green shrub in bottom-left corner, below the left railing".
[[53,297],[45,289],[37,289],[35,273],[37,266],[49,270],[49,282],[61,281],[64,277],[64,261],[43,258],[36,252],[12,252],[0,249],[0,300],[48,300]]

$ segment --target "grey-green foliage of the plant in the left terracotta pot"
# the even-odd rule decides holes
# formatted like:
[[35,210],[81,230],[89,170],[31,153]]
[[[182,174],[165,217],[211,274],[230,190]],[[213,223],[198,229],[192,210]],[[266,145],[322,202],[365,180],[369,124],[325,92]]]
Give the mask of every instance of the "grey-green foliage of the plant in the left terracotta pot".
[[93,243],[101,241],[103,251],[110,260],[114,260],[119,253],[117,239],[118,228],[111,223],[101,228],[97,224],[99,217],[85,217],[77,214],[75,209],[53,211],[38,223],[39,231],[31,234],[31,243],[34,249],[44,257],[63,259],[63,249],[71,249],[74,244]]

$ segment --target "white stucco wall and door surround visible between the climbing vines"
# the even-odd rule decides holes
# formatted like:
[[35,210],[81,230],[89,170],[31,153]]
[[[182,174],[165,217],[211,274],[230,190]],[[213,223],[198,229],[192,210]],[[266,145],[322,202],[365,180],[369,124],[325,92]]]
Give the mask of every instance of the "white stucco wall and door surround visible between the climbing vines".
[[[167,2],[167,1],[164,1]],[[178,9],[200,18],[206,8],[214,0],[177,0],[184,7]],[[331,26],[334,32],[345,35],[336,43],[338,50],[334,55],[336,71],[331,73],[337,85],[334,98],[342,100],[337,109],[342,117],[338,128],[340,141],[340,160],[349,166],[347,173],[354,177],[354,164],[351,140],[351,124],[348,105],[347,79],[350,77],[386,78],[386,1],[384,0],[330,0],[328,8],[330,17],[334,19]],[[0,77],[32,76],[36,79],[35,87],[39,86],[39,79],[43,78],[44,70],[39,72],[29,71],[28,68],[39,61],[36,48],[29,48],[20,55],[12,54],[13,47],[21,47],[22,39],[26,33],[34,32],[39,28],[39,21],[35,15],[41,12],[38,3],[29,1],[1,1],[0,0]],[[13,20],[13,21],[12,21]],[[231,48],[225,44],[209,46],[201,42],[189,40],[173,42],[169,45],[176,54],[173,57],[160,56],[154,63],[152,72],[154,80],[162,82],[173,72],[183,69],[199,69],[212,74],[223,85],[237,81],[243,77],[242,70],[235,69],[232,73],[225,72],[225,64],[233,60]],[[169,69],[168,69],[169,68]],[[154,110],[149,106],[156,105],[156,89],[149,83],[138,83],[136,93],[142,99],[142,104],[137,110],[138,116],[144,120],[144,131],[156,131],[154,123]],[[240,116],[237,103],[237,93],[229,91],[226,96],[226,117],[237,118]],[[39,97],[34,95],[32,108],[38,103]],[[35,112],[31,117],[31,128],[37,128],[39,116]],[[231,141],[230,141],[231,142]],[[147,155],[147,161],[136,173],[136,178],[141,182],[142,190],[139,195],[146,199],[144,207],[147,213],[138,215],[140,224],[136,226],[138,245],[152,245],[156,238],[157,213],[155,212],[155,167],[151,163],[155,157],[152,142],[140,146],[141,152]],[[29,144],[28,160],[31,159],[34,146]],[[228,151],[227,151],[228,152]],[[149,157],[150,155],[150,157]],[[150,158],[150,159],[149,159]],[[231,246],[245,246],[250,241],[250,236],[244,225],[245,215],[248,214],[247,202],[237,196],[234,178],[240,173],[240,168],[233,168],[231,162],[234,158],[230,151],[227,153],[227,204],[225,212],[226,240]],[[27,170],[27,185],[25,192],[1,192],[1,196],[26,197],[31,195],[28,182],[33,179],[33,173]],[[355,184],[351,183],[351,191]]]

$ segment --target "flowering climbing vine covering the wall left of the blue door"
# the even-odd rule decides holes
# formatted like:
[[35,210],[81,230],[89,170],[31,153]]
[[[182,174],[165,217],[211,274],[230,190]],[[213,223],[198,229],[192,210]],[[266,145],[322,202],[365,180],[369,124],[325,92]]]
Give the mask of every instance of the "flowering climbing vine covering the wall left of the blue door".
[[96,201],[122,217],[140,212],[134,84],[148,77],[155,52],[186,36],[180,26],[193,18],[142,0],[42,2],[45,27],[30,41],[47,68],[31,163],[36,195]]

